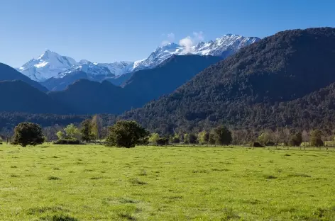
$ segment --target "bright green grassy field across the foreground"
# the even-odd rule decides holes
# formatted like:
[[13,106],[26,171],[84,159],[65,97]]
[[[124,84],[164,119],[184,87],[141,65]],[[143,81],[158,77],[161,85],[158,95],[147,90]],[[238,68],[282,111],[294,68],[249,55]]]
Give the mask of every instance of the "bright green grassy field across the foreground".
[[333,149],[0,145],[0,220],[335,220]]

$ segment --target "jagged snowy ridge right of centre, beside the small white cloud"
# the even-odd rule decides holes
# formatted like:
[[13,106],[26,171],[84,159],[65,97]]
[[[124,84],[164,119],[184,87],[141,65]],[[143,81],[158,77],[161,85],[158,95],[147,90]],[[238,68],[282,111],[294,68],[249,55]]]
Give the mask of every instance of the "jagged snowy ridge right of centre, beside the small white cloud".
[[221,38],[216,38],[214,41],[199,42],[191,48],[186,48],[175,43],[168,43],[167,45],[158,47],[148,58],[135,62],[133,69],[150,69],[156,67],[172,55],[212,55],[226,58],[241,49],[241,47],[250,45],[258,40],[260,38],[227,34]]

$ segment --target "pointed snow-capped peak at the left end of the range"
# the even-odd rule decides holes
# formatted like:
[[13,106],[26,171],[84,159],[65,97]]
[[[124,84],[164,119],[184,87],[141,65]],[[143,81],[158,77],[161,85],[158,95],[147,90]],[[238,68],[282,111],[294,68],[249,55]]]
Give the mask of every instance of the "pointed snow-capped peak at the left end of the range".
[[46,50],[37,59],[32,59],[23,64],[22,67],[18,68],[18,71],[32,80],[40,82],[51,77],[57,77],[58,73],[65,72],[76,64],[77,62],[71,57],[61,56]]

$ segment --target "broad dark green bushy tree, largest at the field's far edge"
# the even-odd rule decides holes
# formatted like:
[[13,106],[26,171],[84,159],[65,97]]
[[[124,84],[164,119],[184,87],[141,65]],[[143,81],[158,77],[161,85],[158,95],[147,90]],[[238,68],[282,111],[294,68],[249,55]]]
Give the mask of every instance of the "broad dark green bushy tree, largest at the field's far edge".
[[134,120],[121,120],[109,127],[106,139],[107,146],[135,147],[140,145],[141,140],[149,135],[144,128]]

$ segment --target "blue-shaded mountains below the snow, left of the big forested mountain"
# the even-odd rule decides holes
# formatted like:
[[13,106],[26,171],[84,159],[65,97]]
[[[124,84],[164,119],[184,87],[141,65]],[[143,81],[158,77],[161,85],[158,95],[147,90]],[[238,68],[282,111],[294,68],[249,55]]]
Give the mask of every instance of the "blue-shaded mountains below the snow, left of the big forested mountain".
[[[163,94],[171,93],[178,86],[192,79],[195,74],[220,60],[221,57],[214,56],[173,55],[158,67],[134,72],[123,87],[111,84],[107,80],[101,83],[89,81],[85,79],[86,72],[76,71],[76,75],[81,76],[81,79],[66,86],[62,91],[49,91],[46,94],[43,86],[40,86],[43,90],[34,87],[34,84],[39,85],[37,82],[6,64],[0,64],[0,69],[8,67],[11,72],[29,80],[0,81],[3,83],[0,85],[3,88],[2,94],[6,94],[4,90],[7,90],[9,94],[6,106],[0,106],[0,111],[57,114],[123,113],[131,108],[141,107]],[[0,75],[2,75],[1,72]],[[65,75],[63,78],[70,77],[72,74]],[[48,80],[45,81],[47,82]],[[34,102],[29,101],[29,98]],[[35,98],[38,99],[35,100]],[[28,105],[29,102],[32,103],[31,106]],[[23,106],[18,106],[18,103]],[[45,106],[45,103],[53,103],[53,105]]]

